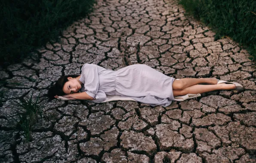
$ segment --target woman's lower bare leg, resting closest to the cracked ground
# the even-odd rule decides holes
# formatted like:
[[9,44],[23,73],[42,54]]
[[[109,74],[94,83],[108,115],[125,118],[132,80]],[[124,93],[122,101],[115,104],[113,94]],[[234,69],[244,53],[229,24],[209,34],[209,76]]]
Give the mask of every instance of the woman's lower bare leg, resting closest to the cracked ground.
[[235,89],[235,85],[233,84],[217,84],[217,85],[192,85],[183,90],[173,90],[174,97],[183,96],[186,94],[202,94],[205,92],[216,91],[216,90],[231,90]]

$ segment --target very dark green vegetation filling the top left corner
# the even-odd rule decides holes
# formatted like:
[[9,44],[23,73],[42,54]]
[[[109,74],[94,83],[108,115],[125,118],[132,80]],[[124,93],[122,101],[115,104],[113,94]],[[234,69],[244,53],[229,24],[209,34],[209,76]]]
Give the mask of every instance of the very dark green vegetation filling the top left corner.
[[27,56],[91,12],[95,0],[1,0],[0,63]]

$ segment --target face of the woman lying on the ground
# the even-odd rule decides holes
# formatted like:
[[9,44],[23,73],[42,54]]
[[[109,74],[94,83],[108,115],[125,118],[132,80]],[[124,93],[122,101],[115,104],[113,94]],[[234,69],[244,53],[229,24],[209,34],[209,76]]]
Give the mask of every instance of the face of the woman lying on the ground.
[[78,92],[82,88],[81,84],[76,78],[68,77],[67,79],[68,81],[63,86],[63,92],[65,94]]

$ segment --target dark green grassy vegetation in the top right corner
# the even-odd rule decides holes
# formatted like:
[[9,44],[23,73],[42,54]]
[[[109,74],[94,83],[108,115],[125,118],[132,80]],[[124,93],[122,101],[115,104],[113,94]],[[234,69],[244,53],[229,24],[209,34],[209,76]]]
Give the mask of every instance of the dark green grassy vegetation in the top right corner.
[[256,0],[180,0],[192,14],[216,32],[244,45],[256,60]]

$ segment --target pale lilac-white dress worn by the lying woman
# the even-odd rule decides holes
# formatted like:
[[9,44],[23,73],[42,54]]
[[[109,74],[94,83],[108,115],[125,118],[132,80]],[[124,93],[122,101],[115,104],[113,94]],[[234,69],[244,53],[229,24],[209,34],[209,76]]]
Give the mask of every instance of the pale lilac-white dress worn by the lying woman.
[[80,91],[96,98],[95,103],[104,102],[106,95],[110,95],[128,97],[151,106],[169,106],[174,100],[174,79],[143,64],[113,71],[85,63],[79,81],[84,84]]

